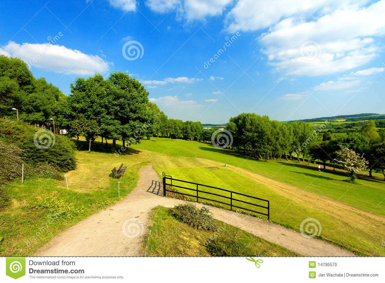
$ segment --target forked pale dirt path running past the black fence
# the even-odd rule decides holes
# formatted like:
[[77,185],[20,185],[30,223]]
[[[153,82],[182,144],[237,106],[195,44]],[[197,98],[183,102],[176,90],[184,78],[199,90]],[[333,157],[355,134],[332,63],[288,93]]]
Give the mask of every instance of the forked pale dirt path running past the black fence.
[[[150,166],[141,168],[137,188],[113,206],[91,215],[63,231],[39,251],[38,256],[140,256],[149,212],[155,206],[172,207],[180,200],[163,197],[161,180]],[[203,206],[197,204],[197,206]],[[214,218],[225,221],[233,213],[211,208]],[[348,250],[281,225],[238,214],[230,223],[304,256],[354,256]]]

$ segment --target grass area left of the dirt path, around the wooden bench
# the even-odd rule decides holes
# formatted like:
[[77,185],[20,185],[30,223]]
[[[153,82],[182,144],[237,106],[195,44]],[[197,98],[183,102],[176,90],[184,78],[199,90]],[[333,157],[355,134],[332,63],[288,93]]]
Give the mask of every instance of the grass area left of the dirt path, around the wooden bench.
[[[117,181],[112,180],[109,174],[114,166],[120,166],[122,162],[129,167],[120,179],[120,194],[121,197],[127,195],[136,186],[139,168],[149,161],[146,155],[139,157],[135,150],[129,151],[118,158],[112,153],[77,151],[79,165],[76,170],[67,173],[68,191],[65,180],[39,179],[25,180],[23,185],[21,181],[8,184],[5,189],[13,204],[0,211],[0,239],[3,238],[0,256],[33,255],[60,232],[119,200]],[[136,154],[137,158],[130,158],[132,154]],[[49,220],[47,215],[54,214],[46,209],[29,209],[28,206],[47,196],[72,204],[72,210],[48,225],[37,240],[27,245],[27,240],[46,225]]]

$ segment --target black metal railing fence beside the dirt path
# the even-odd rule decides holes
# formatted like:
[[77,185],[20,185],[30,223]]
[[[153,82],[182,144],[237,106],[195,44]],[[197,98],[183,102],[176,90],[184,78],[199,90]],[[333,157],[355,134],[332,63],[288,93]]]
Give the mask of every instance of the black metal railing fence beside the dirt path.
[[[166,180],[170,180],[170,183],[169,184],[166,183]],[[172,180],[174,180],[174,185],[172,184]],[[172,178],[172,176],[170,176],[170,175],[166,175],[166,173],[164,173],[164,172],[162,172],[162,181],[163,181],[163,196],[166,196],[166,192],[169,191],[169,192],[177,193],[177,194],[180,194],[180,195],[190,196],[190,197],[192,197],[194,199],[196,198],[196,202],[198,202],[198,203],[199,203],[199,199],[201,199],[201,200],[208,200],[208,201],[215,201],[217,203],[221,203],[223,205],[230,206],[230,210],[233,210],[233,207],[236,207],[236,208],[240,208],[240,209],[243,209],[243,210],[247,210],[247,211],[251,211],[251,212],[254,212],[254,213],[258,213],[258,214],[261,214],[261,215],[266,215],[268,220],[270,218],[270,202],[268,200],[264,200],[263,198],[257,198],[255,196],[249,196],[249,195],[245,195],[243,193],[237,193],[235,191],[229,191],[229,190],[217,188],[217,187],[214,187],[214,186],[208,186],[208,185],[203,185],[203,184],[199,184],[199,183],[194,183],[194,182],[189,182],[189,181],[175,179],[175,178]],[[196,188],[187,188],[186,186],[175,185],[175,181],[182,182],[182,183],[187,183],[187,184],[192,184],[192,185],[195,185]],[[188,194],[188,193],[182,193],[180,191],[167,190],[166,186],[172,186],[172,187],[175,187],[175,188],[182,188],[182,189],[194,191],[195,194],[191,195],[191,194]],[[213,189],[216,189],[216,190],[219,190],[219,191],[218,191],[218,193],[203,191],[203,190],[199,190],[199,186],[206,187],[206,188],[213,188]],[[225,192],[228,193],[228,195],[227,196],[226,195],[221,195],[220,191],[225,191]],[[226,200],[230,200],[230,203],[226,203],[224,201],[219,201],[219,200],[213,200],[213,199],[210,199],[210,198],[205,198],[203,196],[199,196],[199,193],[201,193],[201,195],[202,195],[202,193],[206,193],[206,194],[209,194],[209,195],[219,196],[221,198],[225,198]],[[236,198],[234,198],[233,196],[235,196]],[[253,200],[263,201],[264,203],[267,203],[267,204],[266,205],[259,205],[259,204],[256,204],[256,203],[252,203],[251,200],[250,201],[239,200],[239,196],[244,196],[246,198],[250,198],[250,199],[253,199]],[[257,208],[264,209],[265,212],[251,210],[251,209],[248,209],[248,208],[245,208],[245,207],[241,207],[239,205],[234,204],[233,201],[235,201],[236,204],[238,204],[237,202],[241,202],[241,203],[246,203],[248,205],[256,206]],[[255,208],[255,209],[257,209],[257,208]]]

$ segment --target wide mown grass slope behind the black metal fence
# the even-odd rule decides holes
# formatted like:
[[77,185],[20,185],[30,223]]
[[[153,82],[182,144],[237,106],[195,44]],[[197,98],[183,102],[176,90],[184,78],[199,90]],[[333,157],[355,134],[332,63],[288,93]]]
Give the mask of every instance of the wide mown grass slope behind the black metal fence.
[[[136,148],[152,151],[158,173],[165,171],[174,178],[266,198],[271,201],[271,220],[277,223],[299,230],[304,219],[316,218],[321,222],[323,238],[358,254],[385,255],[385,248],[381,246],[385,221],[380,216],[385,212],[381,207],[385,196],[383,183],[358,180],[360,185],[352,185],[344,181],[347,178],[344,175],[323,172],[318,176],[314,165],[305,166],[297,161],[246,160],[195,141],[153,138]],[[224,163],[229,167],[223,167]],[[265,180],[258,181],[260,175]],[[275,180],[294,187],[280,187]]]

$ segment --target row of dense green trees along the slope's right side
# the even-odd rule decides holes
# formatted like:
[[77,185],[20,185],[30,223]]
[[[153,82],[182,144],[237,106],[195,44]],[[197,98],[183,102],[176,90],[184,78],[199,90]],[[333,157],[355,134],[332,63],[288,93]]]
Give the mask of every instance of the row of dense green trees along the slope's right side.
[[[372,171],[385,177],[385,131],[378,131],[375,121],[369,121],[358,133],[335,138],[332,129],[324,130],[327,125],[327,121],[313,127],[306,122],[282,123],[256,113],[241,113],[230,118],[226,130],[233,139],[232,149],[256,159],[288,160],[290,156],[300,160],[301,155],[302,161],[320,160],[325,169],[326,163],[336,163],[341,150],[348,149],[364,156],[370,177]],[[215,141],[215,130],[204,130],[203,140]]]

